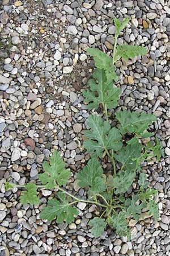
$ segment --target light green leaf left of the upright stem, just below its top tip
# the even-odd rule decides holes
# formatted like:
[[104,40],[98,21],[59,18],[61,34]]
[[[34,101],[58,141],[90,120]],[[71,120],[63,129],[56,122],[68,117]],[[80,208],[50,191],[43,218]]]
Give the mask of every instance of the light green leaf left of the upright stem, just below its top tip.
[[99,49],[87,48],[87,53],[94,57],[96,68],[104,69],[108,81],[117,81],[118,77],[115,72],[115,66],[112,64],[112,59]]

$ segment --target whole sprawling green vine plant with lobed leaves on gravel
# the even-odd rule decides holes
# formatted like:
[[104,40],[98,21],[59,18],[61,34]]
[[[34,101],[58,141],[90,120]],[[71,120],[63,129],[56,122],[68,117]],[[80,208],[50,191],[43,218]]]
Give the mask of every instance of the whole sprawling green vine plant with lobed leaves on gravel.
[[[87,49],[96,61],[96,69],[93,79],[89,81],[90,89],[83,93],[84,98],[89,103],[89,109],[97,109],[102,105],[106,117],[104,120],[93,114],[88,118],[90,130],[86,131],[83,145],[92,158],[77,174],[78,185],[87,188],[88,199],[83,200],[63,188],[69,182],[71,172],[65,169],[65,163],[57,151],[50,156],[49,162],[44,162],[42,165],[44,173],[39,174],[42,185],[26,184],[23,187],[27,191],[24,191],[20,197],[23,204],[39,204],[37,188],[55,189],[57,198],[48,201],[40,217],[47,220],[56,218],[57,223],[65,221],[67,224],[79,214],[78,209],[73,205],[80,201],[95,204],[100,211],[102,210],[100,216],[95,216],[88,223],[95,237],[103,233],[107,224],[116,228],[120,236],[130,237],[128,220],[129,218],[139,220],[143,208],[148,208],[148,213],[153,214],[155,218],[159,217],[158,205],[154,200],[156,190],[150,188],[146,174],[141,172],[142,162],[154,156],[159,161],[163,155],[158,139],[154,146],[149,138],[154,134],[147,131],[152,122],[156,121],[156,117],[145,112],[130,113],[124,110],[116,112],[117,127],[111,127],[109,123],[108,109],[115,108],[120,97],[120,90],[113,86],[113,81],[117,80],[114,63],[120,59],[128,60],[146,54],[146,49],[143,47],[126,44],[117,46],[118,35],[128,21],[129,19],[124,19],[122,22],[114,19],[116,35],[112,59],[99,49]],[[147,138],[150,142],[143,144],[143,138]],[[112,163],[112,175],[104,174],[100,166],[100,158],[108,159],[108,162]],[[126,192],[135,178],[138,179],[138,184],[130,195]],[[15,186],[20,187],[6,183],[7,190]]]

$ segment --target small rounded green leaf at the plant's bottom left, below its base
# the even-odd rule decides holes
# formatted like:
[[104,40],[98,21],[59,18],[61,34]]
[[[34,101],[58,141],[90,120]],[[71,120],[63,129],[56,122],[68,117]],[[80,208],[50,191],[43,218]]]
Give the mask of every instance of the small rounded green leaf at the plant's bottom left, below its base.
[[94,237],[100,237],[103,234],[107,223],[103,218],[95,217],[88,222],[88,225],[92,226],[91,233]]

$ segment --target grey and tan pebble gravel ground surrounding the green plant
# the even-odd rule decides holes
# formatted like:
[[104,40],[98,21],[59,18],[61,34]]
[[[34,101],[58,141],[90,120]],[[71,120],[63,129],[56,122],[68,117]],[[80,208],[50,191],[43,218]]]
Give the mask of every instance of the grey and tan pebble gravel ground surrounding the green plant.
[[[113,18],[130,23],[118,44],[145,46],[148,54],[117,63],[120,109],[145,110],[165,148],[165,159],[145,167],[159,190],[160,218],[147,216],[132,226],[132,239],[107,228],[100,238],[88,221],[99,214],[79,203],[75,223],[45,222],[39,213],[55,192],[41,191],[41,206],[21,205],[20,190],[5,192],[6,180],[37,180],[42,161],[54,149],[62,152],[72,177],[67,189],[78,190],[76,172],[90,156],[82,142],[90,112],[82,88],[94,68],[87,47],[112,52]],[[165,0],[0,0],[0,255],[103,256],[170,255],[170,2]],[[105,168],[111,168],[105,164]],[[86,198],[86,191],[78,194]]]

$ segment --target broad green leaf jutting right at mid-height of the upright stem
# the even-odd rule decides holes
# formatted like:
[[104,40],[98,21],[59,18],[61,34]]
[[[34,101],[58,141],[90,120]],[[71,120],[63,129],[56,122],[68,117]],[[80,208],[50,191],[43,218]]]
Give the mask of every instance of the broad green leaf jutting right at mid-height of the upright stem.
[[148,129],[148,126],[151,125],[152,122],[156,121],[156,117],[153,114],[146,114],[145,112],[130,113],[127,110],[117,112],[116,118],[120,122],[120,131],[122,134],[129,132],[141,135]]

